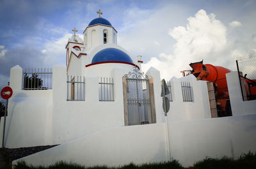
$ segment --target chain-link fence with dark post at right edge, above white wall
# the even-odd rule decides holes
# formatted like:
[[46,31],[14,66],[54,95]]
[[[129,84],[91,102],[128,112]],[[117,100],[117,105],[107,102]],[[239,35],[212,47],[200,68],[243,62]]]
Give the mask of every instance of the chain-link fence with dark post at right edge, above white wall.
[[256,53],[237,57],[236,65],[243,101],[256,99]]

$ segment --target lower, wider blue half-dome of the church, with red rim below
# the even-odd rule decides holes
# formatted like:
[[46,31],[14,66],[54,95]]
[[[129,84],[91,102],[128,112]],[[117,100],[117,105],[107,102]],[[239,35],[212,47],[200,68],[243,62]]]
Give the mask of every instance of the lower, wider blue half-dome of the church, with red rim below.
[[127,62],[133,64],[129,55],[117,48],[105,48],[94,55],[92,64],[96,62]]

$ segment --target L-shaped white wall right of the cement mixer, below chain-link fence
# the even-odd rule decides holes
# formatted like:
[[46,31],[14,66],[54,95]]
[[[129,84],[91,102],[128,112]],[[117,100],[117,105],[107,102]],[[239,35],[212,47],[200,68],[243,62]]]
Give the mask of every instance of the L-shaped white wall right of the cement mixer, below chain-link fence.
[[226,74],[232,115],[256,114],[256,100],[243,101],[237,71]]

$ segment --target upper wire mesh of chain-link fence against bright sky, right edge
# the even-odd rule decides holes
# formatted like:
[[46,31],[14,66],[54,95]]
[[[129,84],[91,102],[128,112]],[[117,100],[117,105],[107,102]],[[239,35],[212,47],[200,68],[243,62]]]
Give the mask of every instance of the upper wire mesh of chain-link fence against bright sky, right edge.
[[256,79],[256,53],[237,57],[237,67],[243,77]]

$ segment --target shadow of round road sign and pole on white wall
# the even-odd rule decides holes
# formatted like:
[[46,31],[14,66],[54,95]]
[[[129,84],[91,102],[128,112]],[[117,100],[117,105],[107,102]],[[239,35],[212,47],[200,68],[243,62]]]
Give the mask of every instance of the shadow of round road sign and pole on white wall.
[[[5,139],[4,139],[4,147],[5,147],[6,140],[8,140],[8,136],[9,136],[9,133],[10,133],[10,126],[12,124],[13,114],[15,112],[13,110],[15,110],[15,107],[16,107],[17,103],[25,101],[27,98],[28,98],[27,94],[25,94],[24,92],[19,92],[18,94],[15,94],[14,98],[12,99],[13,107],[12,107],[12,110],[11,110],[10,114],[8,114],[10,116],[8,117],[8,126],[6,126],[6,135],[5,135]],[[10,108],[8,108],[8,109],[10,110]],[[16,111],[16,113],[17,113],[17,111]]]

